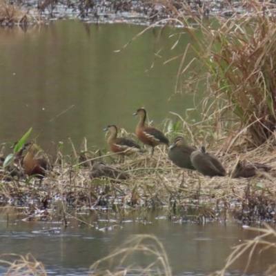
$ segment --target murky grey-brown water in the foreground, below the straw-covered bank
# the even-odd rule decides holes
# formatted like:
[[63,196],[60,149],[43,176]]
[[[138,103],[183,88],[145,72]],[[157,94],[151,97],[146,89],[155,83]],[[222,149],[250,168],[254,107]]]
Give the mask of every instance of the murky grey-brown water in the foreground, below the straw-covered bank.
[[[91,212],[82,214],[80,219],[96,223]],[[45,264],[50,275],[78,275],[121,246],[130,235],[153,234],[164,244],[173,275],[207,275],[224,266],[233,246],[257,235],[257,232],[242,228],[231,218],[226,223],[174,224],[166,219],[157,219],[157,215],[160,214],[148,214],[151,223],[145,225],[135,221],[131,214],[125,218],[121,228],[106,232],[88,228],[73,219],[69,219],[68,228],[63,228],[50,222],[22,221],[22,215],[10,215],[7,221],[6,216],[0,215],[0,254],[32,253]],[[99,227],[114,224],[117,222],[97,221]],[[55,233],[39,233],[39,230],[49,228]],[[247,257],[240,258],[228,275],[241,275]],[[143,258],[132,261],[144,264]],[[273,263],[271,251],[255,254],[246,275],[262,275],[268,264]]]

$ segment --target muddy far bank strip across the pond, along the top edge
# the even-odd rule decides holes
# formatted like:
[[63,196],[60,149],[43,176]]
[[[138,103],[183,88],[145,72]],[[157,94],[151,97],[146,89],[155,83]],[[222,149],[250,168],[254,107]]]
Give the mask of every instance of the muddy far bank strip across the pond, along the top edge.
[[248,4],[244,1],[171,1],[162,3],[155,1],[21,1],[10,0],[0,3],[0,23],[2,26],[13,24],[27,25],[34,23],[49,23],[57,19],[81,19],[86,23],[135,23],[150,25],[160,20],[160,25],[174,24],[176,13],[189,17],[192,11],[199,16],[221,14],[230,17],[234,13],[248,12]]

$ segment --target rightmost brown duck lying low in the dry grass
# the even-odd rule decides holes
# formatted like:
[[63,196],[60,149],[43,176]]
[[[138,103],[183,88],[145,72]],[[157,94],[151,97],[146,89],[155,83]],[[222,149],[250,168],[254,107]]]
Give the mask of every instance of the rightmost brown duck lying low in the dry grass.
[[264,164],[257,164],[257,163],[242,163],[242,161],[239,160],[237,163],[237,166],[229,172],[229,175],[233,178],[238,177],[254,177],[257,175],[258,171],[265,171],[268,172],[271,170],[270,166],[266,166]]

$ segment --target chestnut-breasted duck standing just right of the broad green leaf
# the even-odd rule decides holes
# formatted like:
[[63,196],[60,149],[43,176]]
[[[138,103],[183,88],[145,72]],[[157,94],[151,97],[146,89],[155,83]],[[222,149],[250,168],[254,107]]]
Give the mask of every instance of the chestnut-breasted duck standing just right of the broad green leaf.
[[23,146],[24,150],[27,150],[25,157],[23,158],[23,168],[26,174],[30,177],[31,175],[37,175],[40,179],[40,183],[43,177],[46,176],[46,170],[50,167],[46,157],[38,157],[39,150],[34,142],[27,143]]

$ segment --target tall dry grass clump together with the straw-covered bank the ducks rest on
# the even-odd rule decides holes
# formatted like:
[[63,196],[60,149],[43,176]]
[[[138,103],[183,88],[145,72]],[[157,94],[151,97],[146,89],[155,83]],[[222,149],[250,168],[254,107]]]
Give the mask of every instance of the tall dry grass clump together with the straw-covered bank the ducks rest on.
[[[176,122],[166,121],[173,136],[170,141],[185,133],[191,144],[197,147],[205,144],[209,152],[221,159],[227,171],[237,164],[238,159],[275,167],[273,79],[276,76],[273,76],[276,55],[274,48],[270,47],[276,37],[274,17],[264,16],[260,12],[263,4],[253,1],[250,17],[239,16],[237,12],[235,20],[217,17],[215,22],[221,27],[218,28],[214,20],[198,17],[194,6],[191,8],[190,4],[182,3],[186,5],[183,6],[185,12],[197,23],[197,29],[190,26],[184,12],[172,3],[175,2],[163,3],[173,15],[168,20],[183,24],[198,43],[196,47],[189,44],[181,57],[179,78],[193,68],[190,70],[193,78],[184,81],[182,88],[193,90],[199,81],[206,81],[208,90],[206,97],[195,107],[202,110],[201,121],[188,124],[188,119],[179,115],[176,115]],[[204,14],[200,5],[198,12]],[[197,52],[198,57],[183,68],[190,50]],[[200,71],[204,66],[208,70]],[[266,74],[270,77],[264,77]],[[275,170],[259,172],[257,177],[250,179],[231,179],[228,176],[211,179],[197,172],[175,168],[161,148],[153,158],[144,153],[115,165],[130,175],[125,181],[90,180],[92,163],[97,160],[109,163],[114,155],[88,150],[87,147],[78,154],[74,146],[72,148],[72,156],[63,156],[59,150],[53,159],[56,177],[47,177],[41,186],[32,177],[25,181],[12,179],[3,182],[1,200],[26,206],[31,197],[35,199],[38,210],[48,209],[50,204],[55,206],[57,198],[69,208],[111,207],[114,204],[119,208],[126,205],[131,208],[168,206],[176,217],[181,217],[181,210],[187,206],[217,206],[217,210],[237,206],[237,218],[241,221],[274,219],[271,210],[274,210]],[[5,181],[5,171],[2,176]],[[248,212],[250,215],[244,215]]]

